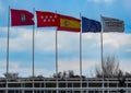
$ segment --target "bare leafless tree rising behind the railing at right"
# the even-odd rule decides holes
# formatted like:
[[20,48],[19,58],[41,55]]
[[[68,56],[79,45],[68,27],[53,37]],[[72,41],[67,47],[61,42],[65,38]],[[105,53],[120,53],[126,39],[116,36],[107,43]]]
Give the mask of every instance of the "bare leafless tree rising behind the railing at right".
[[102,67],[97,66],[95,71],[96,77],[118,77],[119,71],[121,71],[119,68],[119,60],[117,60],[115,56],[106,56],[103,59]]

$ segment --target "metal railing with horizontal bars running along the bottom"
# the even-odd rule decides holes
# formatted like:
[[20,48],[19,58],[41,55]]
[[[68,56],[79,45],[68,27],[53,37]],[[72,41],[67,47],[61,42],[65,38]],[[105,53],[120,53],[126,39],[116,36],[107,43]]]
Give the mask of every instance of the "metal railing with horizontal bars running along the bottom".
[[[0,93],[131,93],[131,79],[126,79],[124,85],[119,85],[118,79],[96,79],[87,78],[82,80],[82,88],[80,86],[80,79],[58,79],[58,88],[56,88],[56,79],[53,78],[35,78],[34,88],[32,86],[32,78],[21,78],[21,79],[0,79]],[[8,88],[5,86],[8,83]],[[104,86],[103,86],[104,84]],[[29,91],[29,92],[28,92]],[[121,92],[122,93],[122,92]]]

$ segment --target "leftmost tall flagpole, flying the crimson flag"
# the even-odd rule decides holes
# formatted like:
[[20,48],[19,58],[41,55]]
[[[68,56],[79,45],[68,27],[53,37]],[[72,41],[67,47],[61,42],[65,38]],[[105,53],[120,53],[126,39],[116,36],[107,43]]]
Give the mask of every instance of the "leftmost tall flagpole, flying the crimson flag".
[[[8,39],[7,39],[7,88],[8,88],[8,74],[9,74],[9,42],[10,42],[10,5],[8,13]],[[5,91],[8,93],[8,90]]]

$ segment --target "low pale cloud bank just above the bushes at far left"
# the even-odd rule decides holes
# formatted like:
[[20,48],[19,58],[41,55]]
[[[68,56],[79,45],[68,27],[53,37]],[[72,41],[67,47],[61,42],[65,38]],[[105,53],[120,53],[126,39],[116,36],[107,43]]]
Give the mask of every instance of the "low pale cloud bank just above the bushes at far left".
[[[39,62],[39,61],[37,61]],[[22,67],[23,61],[10,61],[9,62],[9,72],[19,72],[20,77],[31,77],[32,67]],[[32,66],[32,62],[31,62]],[[3,73],[7,72],[7,62],[0,61],[0,77],[3,77]],[[35,75],[43,74],[44,77],[52,75],[55,71],[45,69],[45,68],[35,68]]]

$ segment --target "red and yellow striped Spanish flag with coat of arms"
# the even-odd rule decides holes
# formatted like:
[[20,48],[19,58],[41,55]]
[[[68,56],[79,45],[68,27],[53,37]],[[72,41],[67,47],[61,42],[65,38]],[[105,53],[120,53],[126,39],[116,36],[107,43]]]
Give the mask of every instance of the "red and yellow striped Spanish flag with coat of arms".
[[60,15],[59,16],[60,24],[58,26],[58,31],[68,31],[68,32],[80,32],[81,31],[81,20]]

